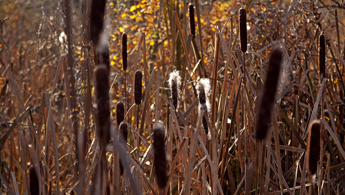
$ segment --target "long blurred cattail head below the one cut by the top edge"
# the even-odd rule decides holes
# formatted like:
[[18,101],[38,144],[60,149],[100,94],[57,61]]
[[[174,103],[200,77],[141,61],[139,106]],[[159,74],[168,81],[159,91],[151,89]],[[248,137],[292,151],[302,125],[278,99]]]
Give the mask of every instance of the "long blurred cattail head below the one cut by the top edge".
[[110,140],[109,79],[105,65],[96,67],[97,130],[100,143],[104,146]]

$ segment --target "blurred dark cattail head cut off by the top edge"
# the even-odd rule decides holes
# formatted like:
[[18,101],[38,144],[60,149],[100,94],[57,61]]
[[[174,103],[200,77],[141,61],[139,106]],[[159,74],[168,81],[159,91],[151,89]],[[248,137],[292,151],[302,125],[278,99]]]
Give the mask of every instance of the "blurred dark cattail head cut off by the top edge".
[[92,0],[90,13],[90,37],[92,44],[97,46],[103,31],[106,0]]

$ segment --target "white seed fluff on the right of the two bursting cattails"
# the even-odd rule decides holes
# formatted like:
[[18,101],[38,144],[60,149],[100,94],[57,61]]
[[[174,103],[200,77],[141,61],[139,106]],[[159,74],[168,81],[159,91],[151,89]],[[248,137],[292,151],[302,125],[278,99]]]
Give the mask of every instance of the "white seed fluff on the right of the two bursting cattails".
[[[207,115],[208,115],[208,121],[210,121],[210,112],[211,112],[211,103],[210,103],[210,99],[209,99],[209,96],[211,94],[211,84],[210,84],[210,81],[208,78],[202,78],[199,80],[199,82],[197,83],[197,92],[198,92],[198,97],[199,99],[203,97],[200,97],[200,96],[203,96],[200,92],[201,90],[204,88],[204,91],[205,91],[205,100],[206,100],[206,106],[207,106]],[[202,103],[199,102],[198,104],[198,115],[200,116],[200,111],[201,111],[201,108],[202,108]],[[210,138],[210,131],[208,130],[208,133],[207,133],[207,136],[208,136],[208,139]]]

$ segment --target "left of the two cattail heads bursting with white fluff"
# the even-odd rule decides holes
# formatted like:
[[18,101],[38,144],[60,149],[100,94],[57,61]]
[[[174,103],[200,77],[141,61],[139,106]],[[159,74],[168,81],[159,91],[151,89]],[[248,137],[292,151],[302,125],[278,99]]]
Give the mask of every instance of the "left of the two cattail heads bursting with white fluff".
[[170,73],[169,86],[170,86],[170,91],[172,92],[173,107],[177,109],[180,104],[179,99],[180,99],[180,86],[181,86],[181,77],[179,75],[178,70],[173,70],[173,72]]

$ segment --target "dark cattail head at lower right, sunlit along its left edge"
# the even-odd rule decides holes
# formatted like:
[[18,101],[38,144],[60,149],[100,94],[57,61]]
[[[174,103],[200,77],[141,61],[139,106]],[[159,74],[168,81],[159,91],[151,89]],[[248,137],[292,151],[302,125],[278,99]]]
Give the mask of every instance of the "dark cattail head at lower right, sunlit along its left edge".
[[309,135],[307,142],[307,167],[308,172],[313,175],[317,170],[317,162],[320,155],[321,124],[318,120],[313,120],[309,125]]

